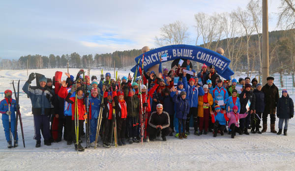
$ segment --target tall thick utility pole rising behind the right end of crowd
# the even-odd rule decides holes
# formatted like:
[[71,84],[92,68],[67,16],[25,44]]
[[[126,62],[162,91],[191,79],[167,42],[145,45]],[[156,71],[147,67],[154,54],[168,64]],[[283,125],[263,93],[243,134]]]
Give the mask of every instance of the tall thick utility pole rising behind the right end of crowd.
[[262,0],[262,84],[266,84],[269,76],[268,62],[268,3]]

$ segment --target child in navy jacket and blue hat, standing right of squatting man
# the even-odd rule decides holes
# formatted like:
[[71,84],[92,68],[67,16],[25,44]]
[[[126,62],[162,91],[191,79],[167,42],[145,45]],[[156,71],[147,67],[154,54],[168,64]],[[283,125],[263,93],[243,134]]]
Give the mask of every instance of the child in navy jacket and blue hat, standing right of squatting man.
[[[185,122],[187,114],[189,113],[189,103],[186,99],[186,92],[181,91],[180,94],[178,94],[178,91],[175,87],[172,88],[172,95],[173,95],[173,101],[176,104],[176,117],[178,119],[178,138],[182,140],[183,138],[187,138],[187,135],[185,135]],[[182,128],[182,129],[181,129]],[[182,131],[181,131],[182,130]]]

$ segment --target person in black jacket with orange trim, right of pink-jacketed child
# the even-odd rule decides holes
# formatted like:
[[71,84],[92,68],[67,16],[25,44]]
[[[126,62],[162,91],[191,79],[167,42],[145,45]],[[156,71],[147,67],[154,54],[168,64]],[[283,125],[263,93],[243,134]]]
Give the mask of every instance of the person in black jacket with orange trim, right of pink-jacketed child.
[[[239,99],[241,103],[240,114],[244,114],[247,111],[246,106],[249,100],[251,103],[249,112],[251,117],[253,117],[253,114],[255,114],[255,95],[251,90],[250,84],[245,85],[245,89],[239,95]],[[250,114],[248,114],[245,118],[239,119],[240,129],[244,130],[244,134],[246,135],[249,135],[247,126],[250,124]]]

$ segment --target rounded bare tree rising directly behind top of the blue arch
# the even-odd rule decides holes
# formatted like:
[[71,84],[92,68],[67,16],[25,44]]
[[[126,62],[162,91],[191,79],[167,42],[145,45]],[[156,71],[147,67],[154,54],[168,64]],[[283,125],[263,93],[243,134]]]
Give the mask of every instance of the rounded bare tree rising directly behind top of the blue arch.
[[188,27],[180,21],[164,25],[161,29],[161,36],[155,37],[158,46],[186,44],[189,42]]

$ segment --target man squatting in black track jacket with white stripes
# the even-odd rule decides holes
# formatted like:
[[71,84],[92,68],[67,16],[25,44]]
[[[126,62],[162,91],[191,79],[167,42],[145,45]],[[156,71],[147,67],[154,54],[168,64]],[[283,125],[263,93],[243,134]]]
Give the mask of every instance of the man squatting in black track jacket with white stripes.
[[148,120],[147,131],[149,134],[149,140],[153,141],[156,136],[160,136],[161,133],[163,141],[166,142],[166,136],[172,132],[172,129],[169,126],[169,114],[163,111],[163,105],[159,103],[157,105],[157,111],[151,113]]

